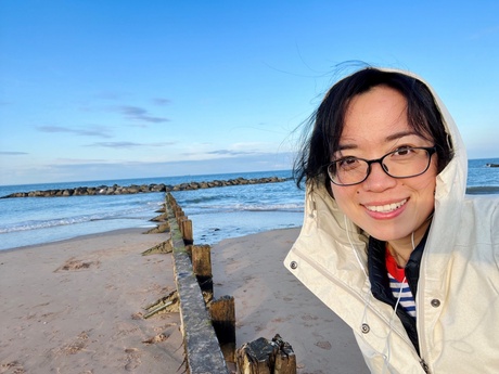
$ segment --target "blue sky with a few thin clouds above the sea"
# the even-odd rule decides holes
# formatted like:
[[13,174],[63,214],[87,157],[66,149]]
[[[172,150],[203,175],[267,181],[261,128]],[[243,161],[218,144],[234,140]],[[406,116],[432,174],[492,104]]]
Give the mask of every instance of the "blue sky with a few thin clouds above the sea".
[[499,1],[0,0],[0,185],[291,169],[344,67],[421,75],[499,157]]

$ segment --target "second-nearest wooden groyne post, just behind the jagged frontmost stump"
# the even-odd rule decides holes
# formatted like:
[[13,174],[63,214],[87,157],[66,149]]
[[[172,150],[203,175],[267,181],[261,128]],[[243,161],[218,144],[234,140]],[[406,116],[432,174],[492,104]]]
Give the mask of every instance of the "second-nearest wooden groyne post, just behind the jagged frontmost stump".
[[235,304],[233,296],[222,296],[209,306],[212,323],[227,362],[235,363]]

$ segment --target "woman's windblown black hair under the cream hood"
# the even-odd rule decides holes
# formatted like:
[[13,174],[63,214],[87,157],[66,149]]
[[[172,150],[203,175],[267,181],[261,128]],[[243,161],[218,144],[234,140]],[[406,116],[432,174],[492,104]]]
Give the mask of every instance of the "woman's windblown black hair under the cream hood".
[[311,115],[306,129],[306,133],[310,129],[311,133],[304,142],[293,168],[298,188],[304,179],[320,182],[324,178],[324,165],[330,163],[331,155],[338,149],[349,102],[376,86],[389,87],[406,98],[409,126],[419,136],[435,142],[438,172],[447,166],[452,158],[450,138],[426,85],[401,73],[367,67],[336,82]]

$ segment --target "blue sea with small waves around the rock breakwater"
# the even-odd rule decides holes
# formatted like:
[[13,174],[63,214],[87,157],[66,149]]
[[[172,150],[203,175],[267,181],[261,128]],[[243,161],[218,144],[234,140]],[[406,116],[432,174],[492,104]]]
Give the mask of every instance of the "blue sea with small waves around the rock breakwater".
[[[468,191],[499,194],[499,158],[469,162]],[[4,185],[0,196],[15,192],[72,189],[78,186],[131,185],[229,180],[236,178],[290,178],[291,170],[141,178],[68,183]],[[194,243],[213,245],[228,237],[273,229],[299,227],[304,191],[293,180],[278,183],[233,185],[171,192],[193,223]],[[165,193],[69,197],[21,197],[0,199],[0,249],[36,245],[117,229],[155,227]]]

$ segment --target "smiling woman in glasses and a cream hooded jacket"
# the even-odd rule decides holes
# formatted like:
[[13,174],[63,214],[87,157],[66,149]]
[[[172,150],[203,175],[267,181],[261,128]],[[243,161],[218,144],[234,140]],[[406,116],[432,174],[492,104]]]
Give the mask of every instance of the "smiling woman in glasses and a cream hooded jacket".
[[354,331],[372,373],[499,372],[499,199],[432,89],[364,68],[334,85],[295,165],[286,267]]

